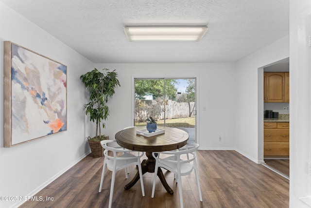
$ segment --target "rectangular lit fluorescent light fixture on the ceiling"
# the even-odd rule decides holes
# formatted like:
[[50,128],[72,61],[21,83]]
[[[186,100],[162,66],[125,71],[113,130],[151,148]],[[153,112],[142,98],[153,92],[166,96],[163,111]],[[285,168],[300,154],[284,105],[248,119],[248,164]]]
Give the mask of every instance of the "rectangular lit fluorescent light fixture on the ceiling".
[[207,26],[124,26],[129,41],[200,41]]

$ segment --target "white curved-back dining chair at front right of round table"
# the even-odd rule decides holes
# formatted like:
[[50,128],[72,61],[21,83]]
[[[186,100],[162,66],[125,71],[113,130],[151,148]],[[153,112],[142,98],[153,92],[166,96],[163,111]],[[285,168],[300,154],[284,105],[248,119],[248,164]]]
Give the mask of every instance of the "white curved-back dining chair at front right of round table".
[[[192,170],[195,171],[196,184],[199,191],[200,201],[202,202],[202,194],[199,181],[199,173],[196,165],[196,151],[199,148],[199,144],[187,144],[177,151],[162,151],[162,152],[153,152],[152,155],[155,158],[155,174],[154,182],[152,186],[151,197],[155,196],[155,181],[158,168],[164,168],[174,173],[174,178],[176,183],[178,183],[178,192],[179,192],[179,201],[180,207],[183,208],[183,193],[182,193],[182,184],[181,176],[189,175]],[[164,158],[164,155],[170,155]]]

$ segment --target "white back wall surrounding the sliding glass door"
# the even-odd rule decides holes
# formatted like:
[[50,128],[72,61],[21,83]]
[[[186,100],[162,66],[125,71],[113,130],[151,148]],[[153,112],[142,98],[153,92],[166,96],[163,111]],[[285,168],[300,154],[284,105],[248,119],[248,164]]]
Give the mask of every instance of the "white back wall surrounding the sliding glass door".
[[[232,149],[237,98],[234,65],[230,63],[96,64],[119,73],[121,87],[109,103],[104,130],[109,136],[133,125],[133,77],[197,78],[197,142],[200,149]],[[113,104],[112,104],[113,103]],[[206,107],[207,111],[203,111]],[[218,141],[218,137],[222,141]]]

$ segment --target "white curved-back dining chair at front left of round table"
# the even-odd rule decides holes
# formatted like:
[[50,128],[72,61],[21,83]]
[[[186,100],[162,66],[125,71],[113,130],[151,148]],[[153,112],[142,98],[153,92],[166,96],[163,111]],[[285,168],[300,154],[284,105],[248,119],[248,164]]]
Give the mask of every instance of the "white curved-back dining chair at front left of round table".
[[[110,195],[109,195],[109,208],[111,208],[112,206],[112,196],[113,196],[116,172],[118,170],[125,169],[130,166],[137,166],[139,177],[140,177],[140,186],[141,186],[142,196],[145,196],[144,184],[143,184],[143,179],[142,179],[142,170],[141,170],[141,165],[140,165],[140,158],[143,156],[144,153],[140,151],[131,151],[131,150],[120,148],[120,146],[117,144],[115,140],[103,140],[101,141],[101,145],[104,148],[104,165],[103,165],[102,178],[101,178],[101,183],[99,187],[99,192],[101,192],[103,189],[105,168],[107,167],[108,170],[112,171]],[[112,155],[110,152],[112,152]],[[117,153],[120,154],[119,152],[122,153],[121,156],[117,155]],[[138,155],[136,156],[134,154],[131,154],[131,152],[136,152],[136,154]]]

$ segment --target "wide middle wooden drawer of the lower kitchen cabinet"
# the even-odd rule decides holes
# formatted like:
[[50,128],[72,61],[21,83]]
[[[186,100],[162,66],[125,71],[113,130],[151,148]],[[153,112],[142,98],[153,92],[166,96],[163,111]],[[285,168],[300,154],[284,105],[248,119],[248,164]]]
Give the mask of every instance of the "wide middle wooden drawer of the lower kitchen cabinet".
[[263,131],[264,142],[289,142],[289,129],[266,129]]

